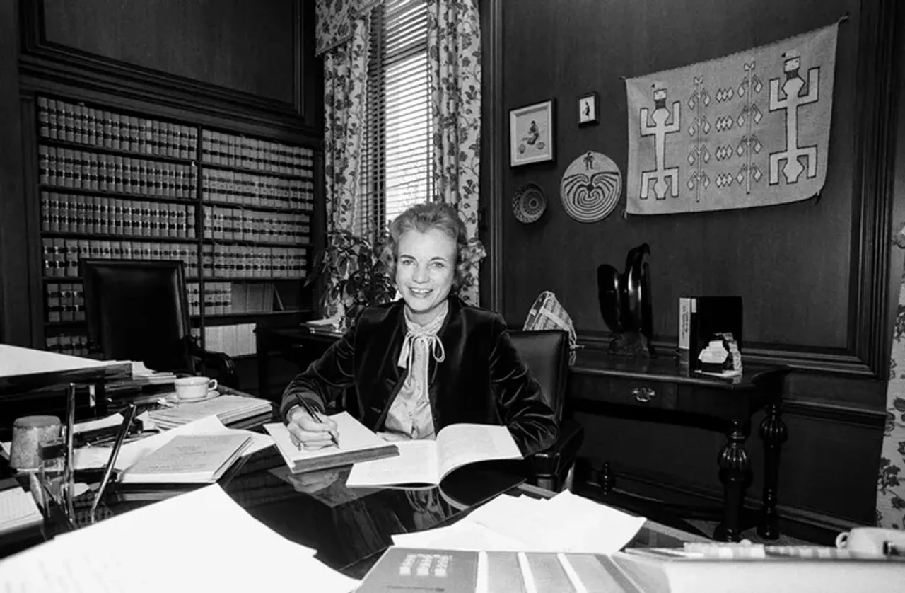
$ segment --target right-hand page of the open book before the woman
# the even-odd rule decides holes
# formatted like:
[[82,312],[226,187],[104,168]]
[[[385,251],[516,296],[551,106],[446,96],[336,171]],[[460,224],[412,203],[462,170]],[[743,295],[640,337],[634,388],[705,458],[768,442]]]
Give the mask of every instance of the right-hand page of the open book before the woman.
[[491,459],[521,459],[519,445],[506,426],[450,425],[437,435],[441,478],[462,465]]

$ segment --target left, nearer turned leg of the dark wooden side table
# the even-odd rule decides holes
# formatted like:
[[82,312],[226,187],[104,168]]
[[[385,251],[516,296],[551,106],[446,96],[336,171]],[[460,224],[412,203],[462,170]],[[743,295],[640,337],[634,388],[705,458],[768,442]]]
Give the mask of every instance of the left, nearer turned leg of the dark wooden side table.
[[723,483],[723,521],[713,531],[713,539],[738,541],[741,539],[741,508],[745,500],[745,484],[751,472],[745,439],[747,426],[732,421],[726,432],[727,443],[719,451],[719,481]]

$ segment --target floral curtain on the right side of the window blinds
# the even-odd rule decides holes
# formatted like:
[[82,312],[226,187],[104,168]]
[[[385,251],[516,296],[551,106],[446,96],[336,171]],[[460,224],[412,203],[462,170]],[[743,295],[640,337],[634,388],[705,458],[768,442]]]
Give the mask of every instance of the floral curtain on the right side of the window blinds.
[[477,0],[428,0],[427,47],[436,196],[455,205],[471,237],[464,301],[478,304],[481,25]]

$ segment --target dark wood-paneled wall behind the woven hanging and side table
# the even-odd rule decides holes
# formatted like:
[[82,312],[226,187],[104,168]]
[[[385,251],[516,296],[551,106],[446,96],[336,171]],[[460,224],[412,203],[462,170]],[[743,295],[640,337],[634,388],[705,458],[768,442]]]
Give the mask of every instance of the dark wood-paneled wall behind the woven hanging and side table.
[[[893,148],[897,137],[905,137],[895,127],[901,66],[891,58],[903,50],[902,11],[897,13],[893,0],[522,0],[499,10],[502,81],[489,90],[491,101],[499,101],[506,120],[510,109],[557,102],[553,163],[508,167],[508,125],[496,122],[504,167],[485,169],[485,176],[488,192],[497,192],[493,199],[501,204],[493,222],[501,235],[497,277],[506,319],[520,325],[538,293],[551,290],[575,321],[579,341],[605,345],[610,335],[597,307],[596,267],[611,263],[621,269],[630,248],[650,244],[653,329],[662,351],[675,346],[681,295],[739,294],[748,356],[808,369],[786,385],[790,437],[780,508],[824,525],[872,521],[891,288],[902,264],[901,254],[888,248],[890,221],[903,215],[891,207],[893,179],[901,187],[902,177]],[[623,196],[614,213],[595,224],[566,214],[559,183],[573,159],[591,149],[625,170],[624,77],[776,42],[846,14],[836,54],[829,168],[819,200],[626,217]],[[589,91],[599,93],[600,123],[579,128],[577,97]],[[510,201],[528,182],[543,187],[548,209],[538,223],[522,225]],[[896,266],[893,282],[890,263]],[[595,378],[579,377],[571,395],[580,399],[597,388]],[[579,416],[589,429],[583,454],[595,463],[609,461],[638,483],[719,496],[714,460],[721,435]],[[748,451],[759,470],[757,436]],[[748,491],[754,498],[759,480],[757,475]]]

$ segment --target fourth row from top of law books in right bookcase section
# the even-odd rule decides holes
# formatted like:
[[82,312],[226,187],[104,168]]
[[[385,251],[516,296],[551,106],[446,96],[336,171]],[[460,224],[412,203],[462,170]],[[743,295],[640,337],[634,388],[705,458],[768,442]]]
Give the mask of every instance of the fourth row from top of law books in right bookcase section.
[[307,251],[303,247],[204,245],[205,278],[305,278]]

